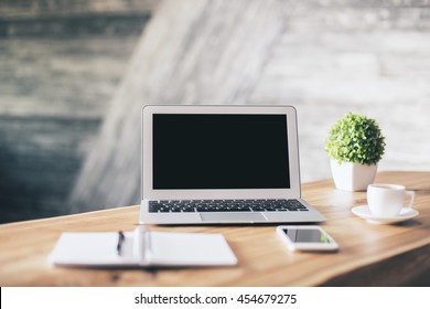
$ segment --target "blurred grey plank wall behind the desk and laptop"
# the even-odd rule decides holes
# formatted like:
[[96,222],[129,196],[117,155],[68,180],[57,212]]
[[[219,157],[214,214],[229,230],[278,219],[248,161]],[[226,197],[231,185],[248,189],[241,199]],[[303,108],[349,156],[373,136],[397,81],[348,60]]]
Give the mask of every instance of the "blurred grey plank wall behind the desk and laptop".
[[[181,61],[194,61],[195,67],[204,70],[207,61],[216,61],[216,51],[225,56],[223,45],[260,43],[259,39],[268,40],[271,30],[275,34],[270,42],[261,43],[258,53],[249,51],[249,58],[258,63],[251,71],[252,78],[240,75],[245,86],[235,84],[245,87],[246,95],[228,103],[297,107],[302,181],[330,177],[325,136],[330,126],[350,110],[379,122],[387,141],[380,170],[430,170],[429,0],[197,2],[0,2],[0,222],[139,203],[140,182],[132,169],[140,152],[125,142],[119,150],[125,158],[131,151],[132,158],[118,166],[109,163],[115,161],[106,159],[100,147],[117,147],[115,134],[106,129],[115,115],[139,118],[128,115],[132,111],[119,104],[123,84],[138,81],[141,84],[133,87],[148,88],[146,83],[153,83],[148,76],[139,76],[148,68],[136,68],[136,64],[154,63],[162,70],[163,46],[174,50],[174,42],[214,44],[211,58],[189,54],[169,60],[180,71]],[[258,6],[264,6],[261,15]],[[284,14],[275,15],[278,23],[268,21],[258,26],[265,14],[279,8]],[[233,23],[237,17],[250,19],[237,21],[247,26],[245,30],[257,33],[266,28],[267,32],[260,38],[246,32],[223,36],[223,25],[244,29]],[[169,30],[173,19],[176,25],[186,25],[183,32]],[[201,26],[187,23],[189,19],[198,20]],[[221,29],[222,44],[207,24]],[[148,38],[158,33],[150,32],[159,30],[165,44],[151,49],[148,45],[153,41]],[[186,38],[169,40],[169,33]],[[201,43],[206,33],[212,40]],[[233,44],[234,40],[237,42]],[[157,72],[157,67],[152,70]],[[163,97],[162,103],[226,103],[212,88],[198,95],[206,77],[207,72],[202,72],[180,84],[186,87],[186,94],[163,87],[165,94],[153,97]],[[171,78],[176,77],[173,74]],[[141,106],[146,99],[143,95],[125,98],[133,106]],[[131,131],[139,136],[139,125],[135,125],[121,126],[120,136]],[[114,157],[121,159],[120,154]],[[104,167],[89,180],[95,162]],[[119,174],[129,181],[103,184],[104,178]],[[95,183],[100,185],[96,188]],[[126,193],[115,200],[107,192]]]

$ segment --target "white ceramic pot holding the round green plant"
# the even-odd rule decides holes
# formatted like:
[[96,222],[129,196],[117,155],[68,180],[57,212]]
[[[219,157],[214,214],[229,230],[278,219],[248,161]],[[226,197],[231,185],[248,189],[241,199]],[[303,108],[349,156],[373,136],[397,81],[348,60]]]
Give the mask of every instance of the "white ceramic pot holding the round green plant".
[[377,164],[364,166],[357,163],[331,160],[334,184],[346,191],[365,191],[374,182]]

